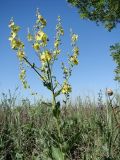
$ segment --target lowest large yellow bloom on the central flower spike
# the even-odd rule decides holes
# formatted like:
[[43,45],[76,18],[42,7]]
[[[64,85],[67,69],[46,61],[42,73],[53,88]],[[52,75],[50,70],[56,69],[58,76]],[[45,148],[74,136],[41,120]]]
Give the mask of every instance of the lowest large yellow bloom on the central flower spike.
[[43,52],[43,54],[40,56],[40,59],[43,63],[49,62],[52,59],[51,53],[48,50]]

